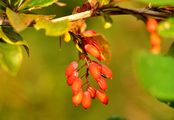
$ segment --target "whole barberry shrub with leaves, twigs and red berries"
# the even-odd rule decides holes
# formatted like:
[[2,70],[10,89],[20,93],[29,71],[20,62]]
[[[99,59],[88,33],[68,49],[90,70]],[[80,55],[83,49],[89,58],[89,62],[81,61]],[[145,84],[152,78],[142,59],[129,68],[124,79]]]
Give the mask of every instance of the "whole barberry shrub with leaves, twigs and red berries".
[[[73,43],[78,53],[78,58],[72,60],[64,70],[65,83],[72,92],[72,104],[74,106],[81,104],[84,109],[88,109],[97,98],[102,104],[108,105],[110,103],[108,93],[112,91],[109,89],[108,82],[117,80],[117,73],[112,72],[108,65],[112,51],[110,51],[109,40],[98,31],[88,29],[86,21],[91,17],[101,17],[104,21],[103,29],[109,31],[113,25],[112,16],[132,15],[137,18],[137,21],[144,23],[145,31],[149,36],[147,40],[149,49],[139,51],[133,56],[135,76],[143,89],[158,99],[157,102],[168,103],[166,106],[172,109],[174,44],[170,44],[166,50],[163,43],[165,38],[174,37],[174,1],[132,0],[130,2],[140,4],[143,6],[142,9],[122,7],[119,4],[127,2],[124,0],[81,2],[81,5],[74,6],[72,15],[57,18],[55,15],[39,14],[37,10],[52,5],[58,7],[66,5],[58,0],[1,0],[1,68],[10,75],[16,76],[23,60],[22,48],[28,56],[32,56],[30,46],[21,36],[21,32],[28,27],[36,30],[43,29],[47,36],[58,38],[60,46],[64,42]],[[113,36],[117,39],[117,36]],[[121,47],[117,51],[122,51]],[[174,119],[173,116],[169,118]]]

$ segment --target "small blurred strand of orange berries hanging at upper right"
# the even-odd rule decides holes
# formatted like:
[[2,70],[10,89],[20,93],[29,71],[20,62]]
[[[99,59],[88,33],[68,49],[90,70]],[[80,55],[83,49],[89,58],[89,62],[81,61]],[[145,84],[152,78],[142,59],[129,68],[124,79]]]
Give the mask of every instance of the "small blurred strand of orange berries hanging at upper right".
[[146,23],[147,31],[150,32],[150,44],[151,52],[154,54],[159,54],[161,51],[161,39],[157,33],[158,22],[153,18],[148,18]]

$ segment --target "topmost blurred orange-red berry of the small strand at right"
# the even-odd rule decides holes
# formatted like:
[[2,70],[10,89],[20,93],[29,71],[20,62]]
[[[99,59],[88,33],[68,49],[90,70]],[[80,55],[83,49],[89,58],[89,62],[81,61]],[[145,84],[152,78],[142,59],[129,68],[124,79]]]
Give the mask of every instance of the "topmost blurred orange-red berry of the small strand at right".
[[153,18],[148,18],[147,23],[146,23],[146,28],[148,32],[155,32],[158,27],[158,22],[157,20]]

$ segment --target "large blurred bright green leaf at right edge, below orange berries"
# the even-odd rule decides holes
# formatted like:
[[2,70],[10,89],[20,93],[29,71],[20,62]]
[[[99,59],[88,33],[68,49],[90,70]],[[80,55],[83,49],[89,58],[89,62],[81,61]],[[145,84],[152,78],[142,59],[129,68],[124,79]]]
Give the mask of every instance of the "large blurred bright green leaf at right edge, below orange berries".
[[144,88],[159,99],[174,100],[174,59],[142,52],[135,61]]

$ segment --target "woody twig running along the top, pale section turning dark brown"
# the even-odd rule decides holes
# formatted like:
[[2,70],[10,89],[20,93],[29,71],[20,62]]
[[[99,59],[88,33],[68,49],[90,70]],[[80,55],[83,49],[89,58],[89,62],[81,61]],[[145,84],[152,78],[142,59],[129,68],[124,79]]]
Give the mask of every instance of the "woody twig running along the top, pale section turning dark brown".
[[[87,10],[85,12],[76,13],[60,18],[52,19],[52,22],[58,22],[62,20],[69,20],[69,21],[77,21],[80,19],[86,19],[95,16],[102,16],[103,13],[109,15],[134,15],[134,16],[141,16],[141,17],[153,17],[159,20],[163,20],[169,17],[174,16],[174,10],[163,10],[163,9],[151,9],[151,8],[123,8],[119,6],[107,6],[103,8],[99,8],[96,10]],[[2,22],[3,20],[3,22]],[[9,24],[7,19],[2,19],[0,17],[0,25],[7,25]],[[32,25],[30,25],[32,26]]]

